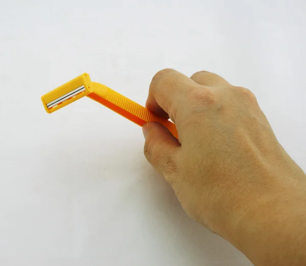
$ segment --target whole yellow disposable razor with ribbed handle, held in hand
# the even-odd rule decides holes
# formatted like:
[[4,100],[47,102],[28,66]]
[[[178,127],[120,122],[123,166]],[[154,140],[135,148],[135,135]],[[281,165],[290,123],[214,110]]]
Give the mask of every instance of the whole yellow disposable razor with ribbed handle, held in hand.
[[41,100],[45,110],[48,113],[53,113],[85,96],[103,104],[139,126],[143,126],[147,122],[160,123],[166,127],[174,137],[178,138],[175,125],[171,121],[152,113],[144,106],[113,91],[106,85],[92,82],[87,73],[43,95]]

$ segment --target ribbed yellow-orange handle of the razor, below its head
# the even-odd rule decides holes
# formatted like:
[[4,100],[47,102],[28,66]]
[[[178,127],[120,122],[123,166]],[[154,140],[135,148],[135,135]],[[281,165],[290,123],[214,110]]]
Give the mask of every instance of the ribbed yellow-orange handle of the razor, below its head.
[[139,126],[143,126],[147,122],[158,122],[166,127],[174,137],[178,138],[175,125],[172,122],[152,113],[147,108],[113,91],[111,88],[107,88],[106,98],[102,98],[95,93],[89,94],[88,97],[121,114]]

